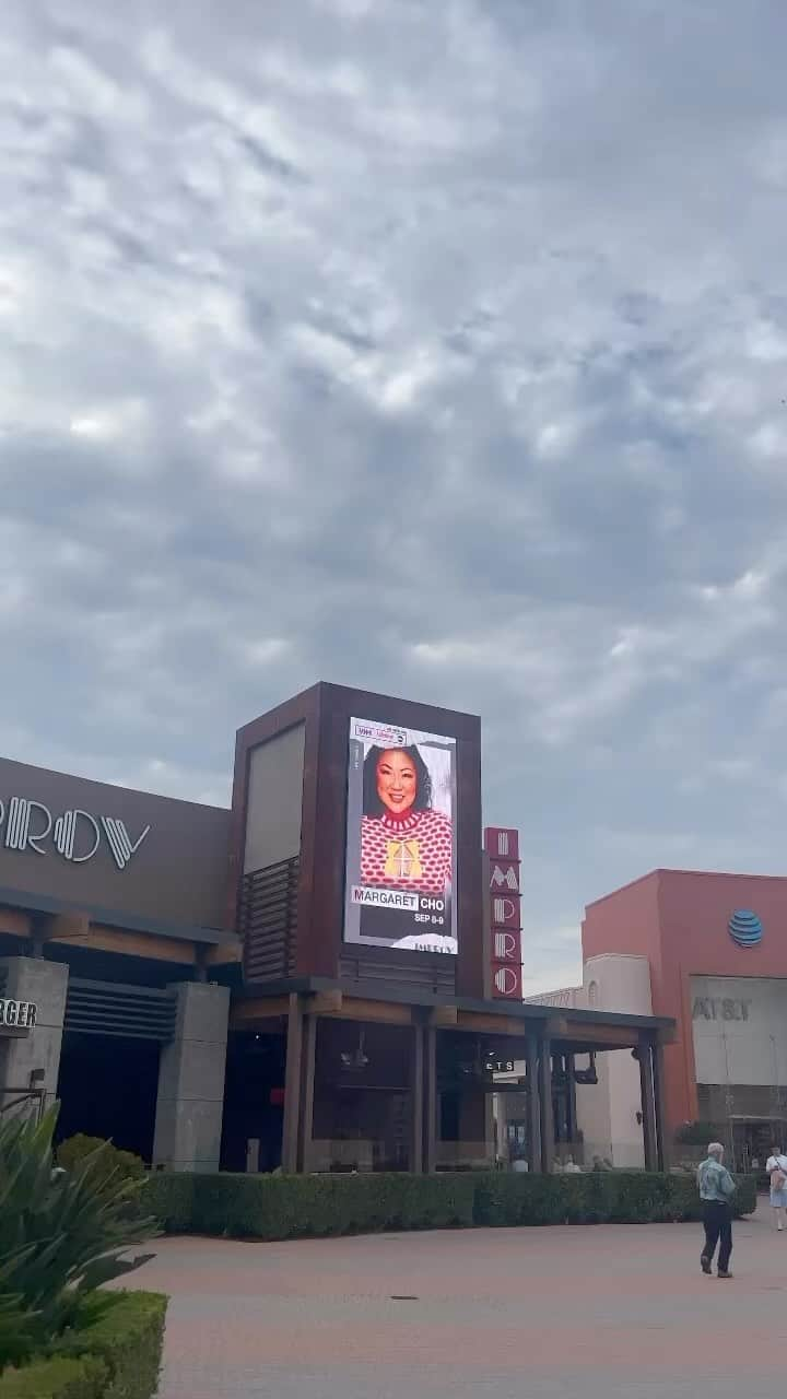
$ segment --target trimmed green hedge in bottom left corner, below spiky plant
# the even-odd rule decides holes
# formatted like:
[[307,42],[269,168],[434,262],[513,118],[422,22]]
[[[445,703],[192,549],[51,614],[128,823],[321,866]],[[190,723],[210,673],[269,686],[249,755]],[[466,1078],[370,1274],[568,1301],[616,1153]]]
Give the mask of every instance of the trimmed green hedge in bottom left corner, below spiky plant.
[[91,1297],[48,1358],[0,1375],[0,1399],[151,1399],[165,1312],[160,1293]]

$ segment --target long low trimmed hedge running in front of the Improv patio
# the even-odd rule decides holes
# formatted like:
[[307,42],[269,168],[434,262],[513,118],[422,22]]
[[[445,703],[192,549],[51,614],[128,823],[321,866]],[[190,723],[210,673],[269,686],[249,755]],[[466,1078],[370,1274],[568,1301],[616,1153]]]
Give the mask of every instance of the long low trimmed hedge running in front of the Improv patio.
[[[381,1230],[525,1224],[646,1224],[700,1217],[692,1175],[151,1175],[144,1207],[169,1234],[304,1238]],[[741,1178],[737,1214],[756,1207]],[[0,1396],[1,1399],[1,1396]]]

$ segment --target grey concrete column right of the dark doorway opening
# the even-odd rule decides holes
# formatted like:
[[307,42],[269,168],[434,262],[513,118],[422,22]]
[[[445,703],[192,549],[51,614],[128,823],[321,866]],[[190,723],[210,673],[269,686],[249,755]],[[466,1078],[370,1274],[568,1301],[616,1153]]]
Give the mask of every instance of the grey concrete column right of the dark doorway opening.
[[153,1164],[217,1171],[224,1115],[230,988],[181,982],[175,1038],[161,1049]]

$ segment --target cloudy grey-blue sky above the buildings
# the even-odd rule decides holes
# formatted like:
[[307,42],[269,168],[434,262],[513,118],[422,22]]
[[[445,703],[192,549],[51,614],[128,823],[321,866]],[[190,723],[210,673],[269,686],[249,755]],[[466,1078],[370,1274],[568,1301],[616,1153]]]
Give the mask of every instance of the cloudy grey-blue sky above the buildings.
[[316,679],[479,712],[527,986],[787,873],[783,0],[10,0],[0,751],[227,802]]

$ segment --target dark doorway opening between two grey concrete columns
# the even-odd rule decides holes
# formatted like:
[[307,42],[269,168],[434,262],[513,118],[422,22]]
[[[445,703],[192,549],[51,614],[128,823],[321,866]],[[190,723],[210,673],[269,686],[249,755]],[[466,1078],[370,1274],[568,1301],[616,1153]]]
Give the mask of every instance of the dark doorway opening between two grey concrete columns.
[[155,1039],[67,1030],[60,1055],[57,1140],[76,1132],[109,1137],[153,1158],[160,1045]]

